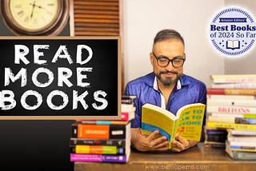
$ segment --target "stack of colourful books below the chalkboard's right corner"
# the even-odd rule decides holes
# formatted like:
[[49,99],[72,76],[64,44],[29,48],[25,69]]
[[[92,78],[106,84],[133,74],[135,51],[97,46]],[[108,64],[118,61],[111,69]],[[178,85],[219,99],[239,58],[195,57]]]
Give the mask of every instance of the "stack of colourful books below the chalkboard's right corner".
[[75,121],[71,125],[70,161],[126,163],[130,157],[134,98],[122,96],[120,120]]

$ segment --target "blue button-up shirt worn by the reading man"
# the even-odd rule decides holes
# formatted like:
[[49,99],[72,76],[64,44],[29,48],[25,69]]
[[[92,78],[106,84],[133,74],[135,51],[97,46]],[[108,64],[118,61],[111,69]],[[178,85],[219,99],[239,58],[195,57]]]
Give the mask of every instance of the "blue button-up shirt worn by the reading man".
[[177,110],[183,105],[201,102],[206,104],[206,85],[186,74],[178,80],[170,95],[167,106],[165,106],[162,93],[158,90],[156,77],[154,73],[147,74],[142,78],[137,78],[126,85],[126,95],[135,95],[136,107],[135,119],[131,123],[132,128],[141,127],[142,105],[151,103],[170,110],[171,113],[177,113]]

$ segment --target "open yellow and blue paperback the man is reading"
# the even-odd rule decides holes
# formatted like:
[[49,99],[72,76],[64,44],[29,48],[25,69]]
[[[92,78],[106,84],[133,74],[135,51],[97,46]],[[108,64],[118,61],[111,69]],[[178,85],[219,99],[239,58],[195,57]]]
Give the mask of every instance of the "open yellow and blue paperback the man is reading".
[[146,103],[142,105],[142,133],[150,135],[159,130],[161,136],[167,137],[169,149],[176,133],[187,140],[200,141],[205,109],[202,103],[184,105],[175,116],[166,109]]

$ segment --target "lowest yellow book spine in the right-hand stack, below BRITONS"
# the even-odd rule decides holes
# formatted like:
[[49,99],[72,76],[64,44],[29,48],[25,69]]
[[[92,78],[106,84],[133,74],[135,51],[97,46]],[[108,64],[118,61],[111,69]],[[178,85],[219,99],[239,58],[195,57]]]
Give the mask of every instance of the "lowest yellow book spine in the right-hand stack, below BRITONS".
[[256,125],[234,124],[234,123],[216,122],[216,121],[207,121],[206,125],[209,128],[246,129],[246,130],[256,129]]

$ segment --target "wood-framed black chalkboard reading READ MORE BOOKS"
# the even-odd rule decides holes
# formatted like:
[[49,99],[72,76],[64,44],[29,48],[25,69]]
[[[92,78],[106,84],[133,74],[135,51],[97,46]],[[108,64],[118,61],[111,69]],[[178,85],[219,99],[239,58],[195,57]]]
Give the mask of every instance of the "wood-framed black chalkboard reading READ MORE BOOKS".
[[0,38],[0,119],[118,119],[119,37]]

